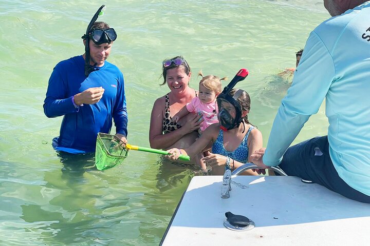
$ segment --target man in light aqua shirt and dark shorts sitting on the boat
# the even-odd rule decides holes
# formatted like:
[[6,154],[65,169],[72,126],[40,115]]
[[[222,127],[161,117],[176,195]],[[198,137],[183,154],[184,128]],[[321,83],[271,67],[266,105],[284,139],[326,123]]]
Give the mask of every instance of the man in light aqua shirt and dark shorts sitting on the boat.
[[[252,158],[370,203],[370,1],[324,6],[334,17],[310,33],[267,148]],[[324,98],[328,135],[288,148]]]

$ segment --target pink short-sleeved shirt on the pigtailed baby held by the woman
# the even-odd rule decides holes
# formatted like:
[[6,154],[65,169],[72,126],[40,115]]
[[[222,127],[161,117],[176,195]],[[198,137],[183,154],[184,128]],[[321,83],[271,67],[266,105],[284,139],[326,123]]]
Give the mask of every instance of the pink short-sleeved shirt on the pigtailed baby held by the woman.
[[200,130],[204,131],[207,127],[214,123],[218,123],[217,115],[214,113],[216,112],[215,101],[211,103],[205,104],[199,99],[199,97],[194,97],[192,101],[187,104],[187,110],[191,112],[198,112],[198,114],[202,114],[204,121],[200,126]]

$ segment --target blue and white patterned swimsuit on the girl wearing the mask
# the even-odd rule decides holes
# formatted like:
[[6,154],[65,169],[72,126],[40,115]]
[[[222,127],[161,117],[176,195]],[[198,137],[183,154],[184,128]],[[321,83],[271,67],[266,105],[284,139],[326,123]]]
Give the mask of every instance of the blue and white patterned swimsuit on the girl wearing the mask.
[[229,156],[231,159],[236,161],[247,163],[248,162],[248,135],[254,127],[248,129],[247,134],[243,138],[241,144],[236,148],[236,150],[230,152],[224,148],[224,131],[220,130],[216,141],[212,145],[212,153],[219,154],[223,156]]

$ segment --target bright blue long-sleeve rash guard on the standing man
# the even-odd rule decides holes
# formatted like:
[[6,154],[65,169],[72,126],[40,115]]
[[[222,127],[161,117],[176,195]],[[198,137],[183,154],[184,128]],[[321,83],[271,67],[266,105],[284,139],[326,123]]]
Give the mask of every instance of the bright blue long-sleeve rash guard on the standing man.
[[[123,74],[115,65],[105,61],[99,70],[86,78],[84,66],[82,55],[75,56],[61,61],[51,73],[44,100],[44,113],[47,117],[64,115],[55,150],[70,153],[94,152],[98,133],[109,133],[112,119],[116,125],[116,133],[127,136]],[[101,100],[93,105],[75,108],[72,96],[93,87],[104,88]]]

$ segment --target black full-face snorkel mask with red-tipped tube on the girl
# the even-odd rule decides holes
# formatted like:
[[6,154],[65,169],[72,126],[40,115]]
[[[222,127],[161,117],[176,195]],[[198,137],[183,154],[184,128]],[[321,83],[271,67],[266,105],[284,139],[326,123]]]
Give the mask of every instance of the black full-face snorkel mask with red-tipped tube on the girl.
[[[247,69],[242,68],[230,81],[224,90],[217,96],[218,120],[220,128],[223,131],[231,130],[239,127],[242,118],[242,106],[238,103],[237,98],[243,93],[243,90],[237,90],[233,96],[230,96],[230,91],[236,83],[244,80],[248,76]],[[233,116],[233,114],[235,116]]]

